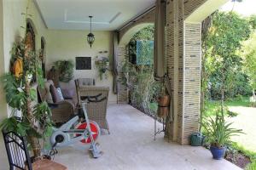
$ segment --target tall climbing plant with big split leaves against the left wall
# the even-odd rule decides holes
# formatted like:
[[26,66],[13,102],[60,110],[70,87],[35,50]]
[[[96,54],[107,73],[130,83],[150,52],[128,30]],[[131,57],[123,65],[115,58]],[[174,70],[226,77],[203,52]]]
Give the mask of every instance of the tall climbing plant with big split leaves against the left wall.
[[[32,82],[33,77],[36,77],[38,86],[42,86],[43,71],[39,66],[38,53],[32,48],[31,38],[31,33],[26,33],[24,39],[15,42],[10,52],[11,71],[3,75],[2,82],[6,102],[12,112],[1,122],[0,128],[25,136],[33,156],[37,158],[41,156],[39,138],[49,133],[52,123],[49,119],[51,112],[47,103],[37,104],[37,90],[32,88],[35,85]],[[40,125],[44,125],[43,128],[39,128]]]

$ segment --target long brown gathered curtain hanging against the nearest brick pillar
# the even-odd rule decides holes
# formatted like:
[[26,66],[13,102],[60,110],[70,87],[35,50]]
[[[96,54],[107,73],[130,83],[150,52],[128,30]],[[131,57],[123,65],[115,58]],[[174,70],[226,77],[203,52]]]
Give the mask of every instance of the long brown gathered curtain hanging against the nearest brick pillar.
[[154,78],[163,80],[166,73],[166,0],[157,0],[154,21]]

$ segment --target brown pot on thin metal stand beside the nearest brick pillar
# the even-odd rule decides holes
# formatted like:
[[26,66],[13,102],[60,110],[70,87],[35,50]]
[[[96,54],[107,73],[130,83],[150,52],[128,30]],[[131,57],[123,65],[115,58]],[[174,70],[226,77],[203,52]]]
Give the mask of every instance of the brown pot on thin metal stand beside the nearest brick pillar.
[[170,96],[164,95],[158,98],[157,116],[165,118],[169,113]]

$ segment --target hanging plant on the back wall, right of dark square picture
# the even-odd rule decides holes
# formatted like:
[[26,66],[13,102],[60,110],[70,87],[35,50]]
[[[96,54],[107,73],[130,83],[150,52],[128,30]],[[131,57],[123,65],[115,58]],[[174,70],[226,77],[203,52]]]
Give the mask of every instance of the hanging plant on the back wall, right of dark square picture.
[[102,80],[103,76],[105,76],[105,78],[108,79],[109,58],[102,57],[101,59],[99,59],[98,57],[96,57],[95,65],[99,71],[100,79]]

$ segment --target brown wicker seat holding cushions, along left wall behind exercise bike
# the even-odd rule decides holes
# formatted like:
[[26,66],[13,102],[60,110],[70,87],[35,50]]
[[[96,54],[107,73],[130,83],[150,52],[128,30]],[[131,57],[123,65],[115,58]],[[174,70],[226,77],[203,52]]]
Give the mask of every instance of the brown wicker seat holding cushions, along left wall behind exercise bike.
[[[49,94],[49,85],[54,84],[52,81],[45,82],[44,88],[38,87],[38,100],[47,101],[47,95]],[[52,104],[47,101],[51,108],[52,120],[55,123],[67,122],[68,119],[73,116],[75,110],[75,104],[72,99],[64,99],[61,102]]]

